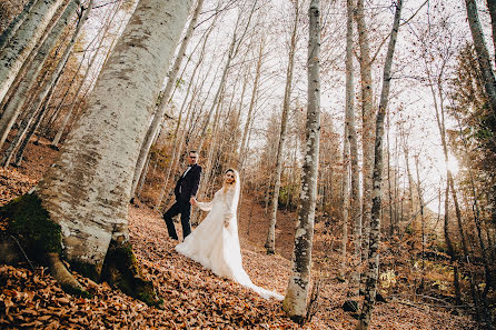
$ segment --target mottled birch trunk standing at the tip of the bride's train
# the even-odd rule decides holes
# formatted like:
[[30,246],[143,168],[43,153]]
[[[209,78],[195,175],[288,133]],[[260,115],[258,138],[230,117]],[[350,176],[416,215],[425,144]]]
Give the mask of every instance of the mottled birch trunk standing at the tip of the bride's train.
[[320,138],[320,3],[313,0],[308,10],[308,109],[306,124],[306,152],[301,174],[300,208],[295,233],[291,276],[286,289],[282,309],[297,321],[306,317],[307,297],[311,271],[315,206],[317,198],[317,170]]

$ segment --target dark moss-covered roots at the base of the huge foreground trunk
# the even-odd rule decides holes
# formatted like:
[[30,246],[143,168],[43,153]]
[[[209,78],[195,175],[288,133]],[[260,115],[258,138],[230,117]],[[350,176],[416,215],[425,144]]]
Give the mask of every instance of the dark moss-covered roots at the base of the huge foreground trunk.
[[[66,292],[88,297],[61,261],[61,230],[41,204],[36,193],[21,196],[0,208],[0,217],[8,219],[8,228],[0,231],[0,262],[16,264],[33,261],[49,267],[51,274]],[[14,239],[16,238],[16,239]],[[129,242],[112,241],[107,252],[101,274],[91,264],[72,262],[82,276],[107,281],[122,292],[159,307],[151,281],[145,280]]]

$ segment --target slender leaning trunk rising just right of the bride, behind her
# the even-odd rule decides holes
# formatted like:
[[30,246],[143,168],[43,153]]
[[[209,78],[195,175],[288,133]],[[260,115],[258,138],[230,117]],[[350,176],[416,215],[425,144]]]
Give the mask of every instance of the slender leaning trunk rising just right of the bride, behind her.
[[[286,128],[288,126],[288,114],[289,114],[289,102],[291,100],[291,88],[292,88],[292,71],[295,67],[295,51],[296,51],[296,31],[298,28],[298,17],[299,17],[299,3],[298,0],[295,1],[295,22],[292,26],[291,41],[289,44],[289,59],[288,69],[286,72],[286,87],[285,87],[285,99],[282,103],[282,118],[280,120],[280,132],[279,132],[279,143],[277,146],[276,154],[276,173],[275,173],[275,184],[272,193],[272,202],[270,203],[272,210],[270,213],[269,231],[267,233],[267,241],[265,247],[267,249],[267,254],[274,254],[276,249],[276,222],[277,222],[277,209],[279,207],[279,188],[280,188],[280,176],[282,172],[282,150],[286,141]],[[260,56],[261,59],[261,48]],[[259,67],[257,67],[256,83],[258,84],[258,77],[260,76]]]

